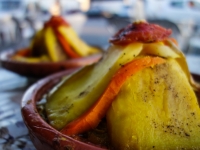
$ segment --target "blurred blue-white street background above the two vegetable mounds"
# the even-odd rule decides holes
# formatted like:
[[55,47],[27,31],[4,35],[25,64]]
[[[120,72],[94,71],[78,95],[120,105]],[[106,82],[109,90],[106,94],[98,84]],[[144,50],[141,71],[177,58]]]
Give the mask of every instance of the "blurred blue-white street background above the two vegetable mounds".
[[89,44],[106,49],[116,31],[145,19],[171,28],[185,54],[200,55],[200,0],[0,0],[0,51],[28,46],[55,4]]

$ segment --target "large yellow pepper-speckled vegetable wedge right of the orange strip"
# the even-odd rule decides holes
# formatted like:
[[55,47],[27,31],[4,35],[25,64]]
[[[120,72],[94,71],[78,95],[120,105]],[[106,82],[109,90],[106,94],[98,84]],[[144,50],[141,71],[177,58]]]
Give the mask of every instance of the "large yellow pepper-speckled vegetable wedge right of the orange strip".
[[179,64],[146,68],[129,78],[107,112],[116,149],[200,149],[200,109]]

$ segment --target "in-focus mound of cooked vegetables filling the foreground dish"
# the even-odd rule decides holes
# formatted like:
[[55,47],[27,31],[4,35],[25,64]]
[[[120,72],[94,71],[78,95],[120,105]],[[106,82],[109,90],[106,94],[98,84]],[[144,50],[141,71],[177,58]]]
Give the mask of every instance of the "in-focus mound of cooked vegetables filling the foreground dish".
[[55,131],[107,149],[199,149],[200,109],[171,30],[134,22],[101,61],[65,76],[37,104]]

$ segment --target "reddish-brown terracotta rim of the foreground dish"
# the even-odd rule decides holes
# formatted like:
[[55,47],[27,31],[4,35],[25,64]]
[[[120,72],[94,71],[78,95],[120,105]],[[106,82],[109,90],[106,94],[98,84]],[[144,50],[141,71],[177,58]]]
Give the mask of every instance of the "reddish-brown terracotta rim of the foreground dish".
[[[22,116],[29,130],[31,140],[38,150],[103,150],[98,146],[80,142],[60,133],[45,122],[37,111],[36,103],[40,101],[42,96],[56,85],[63,76],[75,70],[68,70],[46,77],[30,87],[23,96]],[[199,75],[193,76],[196,81],[200,82]]]

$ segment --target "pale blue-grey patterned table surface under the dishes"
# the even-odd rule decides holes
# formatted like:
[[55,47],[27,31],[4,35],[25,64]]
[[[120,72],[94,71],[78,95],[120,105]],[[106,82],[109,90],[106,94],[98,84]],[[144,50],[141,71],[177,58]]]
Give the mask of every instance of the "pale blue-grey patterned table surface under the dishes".
[[[200,74],[200,57],[187,56],[192,73]],[[0,68],[0,149],[35,150],[21,117],[24,92],[38,79],[26,78]]]

